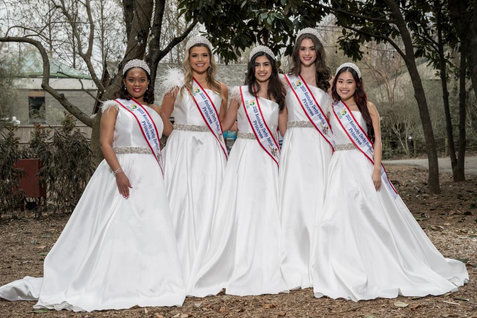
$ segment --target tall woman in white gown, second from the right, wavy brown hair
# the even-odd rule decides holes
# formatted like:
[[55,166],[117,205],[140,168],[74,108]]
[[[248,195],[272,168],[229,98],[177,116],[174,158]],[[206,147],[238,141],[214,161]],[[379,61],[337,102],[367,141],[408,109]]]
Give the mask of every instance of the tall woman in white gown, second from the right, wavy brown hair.
[[[288,289],[312,286],[310,262],[315,218],[321,213],[333,151],[326,116],[331,71],[318,31],[301,30],[285,75],[288,113],[280,159],[281,271]],[[313,115],[311,115],[313,114]]]

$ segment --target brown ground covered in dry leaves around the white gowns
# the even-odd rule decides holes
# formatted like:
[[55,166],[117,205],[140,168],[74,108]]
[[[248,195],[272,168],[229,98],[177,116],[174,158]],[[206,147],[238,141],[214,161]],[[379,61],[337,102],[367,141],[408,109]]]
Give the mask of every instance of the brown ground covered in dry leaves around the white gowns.
[[[358,303],[316,299],[312,289],[289,294],[187,298],[182,308],[133,308],[122,311],[33,313],[34,302],[0,300],[0,317],[186,318],[186,317],[472,317],[477,318],[477,176],[454,183],[441,175],[442,194],[428,193],[426,170],[389,166],[398,193],[434,245],[446,257],[466,262],[470,282],[458,292],[439,297],[398,297]],[[0,220],[0,285],[29,276],[42,276],[44,255],[52,247],[69,215],[44,214],[40,220],[19,213]]]

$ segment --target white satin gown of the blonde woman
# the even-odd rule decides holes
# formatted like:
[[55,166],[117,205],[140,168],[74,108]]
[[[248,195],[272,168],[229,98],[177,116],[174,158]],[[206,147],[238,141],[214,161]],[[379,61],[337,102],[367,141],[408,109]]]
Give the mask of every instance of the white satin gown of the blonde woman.
[[[222,99],[205,89],[220,109]],[[186,91],[176,97],[174,121],[206,123]],[[227,159],[210,131],[173,130],[163,149],[164,180],[179,249],[184,282],[187,284],[206,220],[217,206]]]

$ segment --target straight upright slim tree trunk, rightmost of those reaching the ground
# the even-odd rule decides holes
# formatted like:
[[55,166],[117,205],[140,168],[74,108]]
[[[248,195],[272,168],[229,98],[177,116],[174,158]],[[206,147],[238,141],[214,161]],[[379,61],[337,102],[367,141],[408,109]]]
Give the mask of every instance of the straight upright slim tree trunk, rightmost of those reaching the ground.
[[[463,29],[464,30],[464,29]],[[464,159],[466,154],[466,71],[467,71],[467,43],[461,42],[461,61],[459,70],[459,157],[454,169],[454,181],[464,181],[465,167]]]

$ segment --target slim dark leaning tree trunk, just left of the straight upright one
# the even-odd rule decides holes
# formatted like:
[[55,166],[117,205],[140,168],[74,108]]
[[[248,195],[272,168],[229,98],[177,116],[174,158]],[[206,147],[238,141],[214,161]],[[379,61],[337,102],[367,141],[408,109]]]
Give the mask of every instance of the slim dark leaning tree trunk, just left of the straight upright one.
[[[444,56],[444,45],[442,42],[442,4],[438,3],[440,7],[437,10],[436,22],[437,22],[437,44],[439,48],[439,64],[440,64],[440,77],[442,83],[442,100],[444,104],[444,115],[446,118],[446,131],[447,139],[449,142],[449,157],[451,159],[452,172],[457,165],[456,147],[454,145],[454,132],[452,127],[451,110],[449,105],[449,90],[447,89],[447,71],[446,71],[446,59]],[[455,179],[455,175],[454,175]]]

